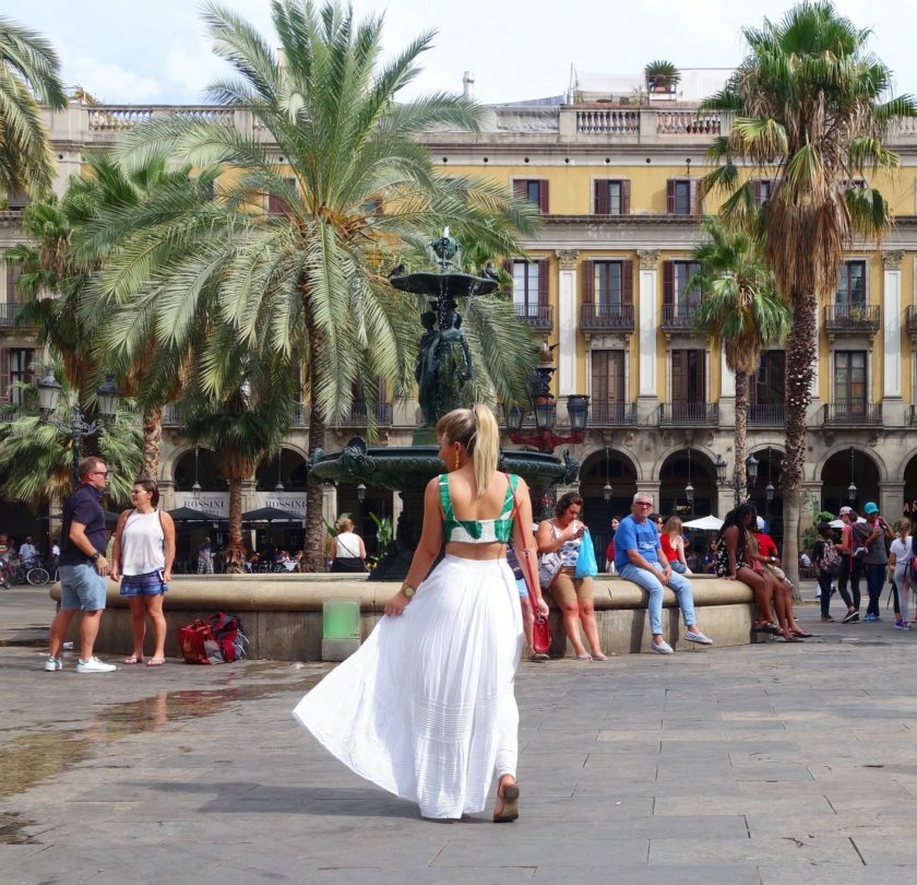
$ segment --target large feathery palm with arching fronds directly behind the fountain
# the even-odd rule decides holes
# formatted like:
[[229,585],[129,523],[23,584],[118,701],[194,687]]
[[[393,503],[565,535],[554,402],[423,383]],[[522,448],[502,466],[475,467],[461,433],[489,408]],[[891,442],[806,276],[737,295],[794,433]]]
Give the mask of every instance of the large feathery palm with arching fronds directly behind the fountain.
[[[116,149],[128,169],[166,153],[234,172],[219,178],[216,200],[169,205],[160,194],[130,217],[109,216],[134,236],[109,258],[102,288],[148,308],[160,343],[187,344],[206,317],[231,327],[248,346],[264,338],[291,365],[302,365],[314,452],[355,399],[374,403],[380,379],[395,396],[409,391],[417,304],[389,286],[385,271],[396,261],[426,264],[427,241],[445,225],[491,255],[517,252],[514,232],[532,233],[537,211],[504,188],[436,174],[419,135],[440,125],[474,129],[480,111],[442,94],[394,102],[416,76],[431,34],[382,63],[381,19],[355,22],[350,10],[332,2],[319,10],[296,0],[275,0],[272,15],[277,54],[234,13],[207,5],[204,16],[215,51],[238,73],[214,84],[211,96],[250,111],[251,132],[175,115],[139,127]],[[156,249],[170,250],[171,260],[151,279]],[[498,323],[503,332],[495,339]],[[504,401],[519,399],[534,352],[527,338],[515,341],[511,311],[468,311],[467,326],[469,338],[505,345],[497,354],[490,347],[499,370],[478,366],[485,386]],[[219,359],[207,365],[203,382],[211,392],[226,389],[223,367]],[[367,411],[371,435],[374,417]],[[309,494],[321,499],[311,480]],[[314,569],[322,565],[322,533],[320,509],[310,507],[306,551]]]

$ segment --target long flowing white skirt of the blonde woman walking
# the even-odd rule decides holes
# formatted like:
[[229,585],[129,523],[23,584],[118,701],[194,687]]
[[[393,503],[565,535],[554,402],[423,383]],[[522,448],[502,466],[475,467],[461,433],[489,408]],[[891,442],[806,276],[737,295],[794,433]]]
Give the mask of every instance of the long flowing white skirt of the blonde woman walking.
[[445,556],[404,613],[383,616],[293,715],[424,817],[457,818],[484,809],[495,774],[515,776],[522,646],[507,560]]

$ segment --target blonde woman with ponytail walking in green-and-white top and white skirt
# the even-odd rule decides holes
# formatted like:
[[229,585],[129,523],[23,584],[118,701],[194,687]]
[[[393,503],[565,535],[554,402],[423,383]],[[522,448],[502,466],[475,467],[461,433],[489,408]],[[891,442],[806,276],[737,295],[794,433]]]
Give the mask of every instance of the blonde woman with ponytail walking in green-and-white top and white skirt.
[[[417,802],[424,817],[481,811],[496,774],[493,819],[514,821],[523,632],[507,543],[512,536],[517,552],[528,551],[523,566],[535,563],[528,488],[497,472],[500,432],[488,406],[443,415],[437,438],[448,472],[427,484],[407,580],[361,648],[294,716],[358,775]],[[445,557],[428,576],[443,540]]]

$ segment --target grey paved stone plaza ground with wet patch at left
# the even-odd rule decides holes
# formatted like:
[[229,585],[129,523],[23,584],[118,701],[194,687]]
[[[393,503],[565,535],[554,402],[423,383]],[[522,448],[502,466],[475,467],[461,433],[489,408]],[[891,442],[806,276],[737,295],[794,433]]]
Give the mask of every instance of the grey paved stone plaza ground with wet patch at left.
[[46,591],[0,613],[3,885],[917,878],[917,630],[888,618],[809,604],[805,645],[523,664],[523,816],[496,826],[325,755],[290,717],[322,665],[45,673]]

